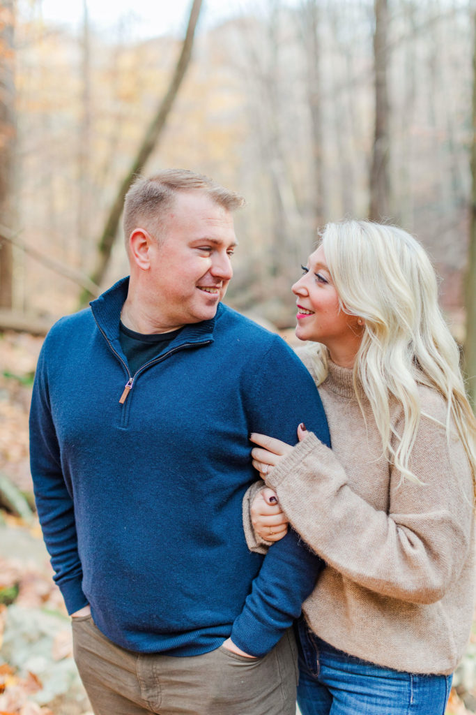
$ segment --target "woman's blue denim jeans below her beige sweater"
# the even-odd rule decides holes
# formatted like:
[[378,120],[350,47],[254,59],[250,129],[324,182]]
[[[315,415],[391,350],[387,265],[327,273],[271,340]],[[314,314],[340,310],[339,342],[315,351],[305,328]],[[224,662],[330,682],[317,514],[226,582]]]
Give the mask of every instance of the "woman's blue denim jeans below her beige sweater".
[[338,651],[298,623],[303,715],[444,715],[452,676],[402,673]]

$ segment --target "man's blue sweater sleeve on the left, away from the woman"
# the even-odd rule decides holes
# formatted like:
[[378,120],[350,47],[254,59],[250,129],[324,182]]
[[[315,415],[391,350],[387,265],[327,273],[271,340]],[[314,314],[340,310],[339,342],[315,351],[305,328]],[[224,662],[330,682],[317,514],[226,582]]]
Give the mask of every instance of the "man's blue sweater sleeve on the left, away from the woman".
[[[48,338],[47,338],[48,340]],[[81,588],[74,506],[61,468],[61,454],[51,416],[46,344],[41,350],[30,410],[30,465],[36,508],[46,548],[69,613],[87,605]]]

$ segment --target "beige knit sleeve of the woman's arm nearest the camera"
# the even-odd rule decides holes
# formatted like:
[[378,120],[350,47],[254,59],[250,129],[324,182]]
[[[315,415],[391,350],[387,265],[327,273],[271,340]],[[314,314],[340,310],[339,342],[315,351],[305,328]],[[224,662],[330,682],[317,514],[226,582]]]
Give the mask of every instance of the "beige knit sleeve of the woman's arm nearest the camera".
[[[409,603],[442,598],[459,576],[471,539],[470,465],[460,440],[447,438],[439,395],[426,390],[422,409],[410,460],[421,483],[402,480],[388,467],[388,513],[353,490],[334,453],[313,434],[266,478],[294,528],[329,566],[370,591]],[[355,445],[355,459],[363,449]]]

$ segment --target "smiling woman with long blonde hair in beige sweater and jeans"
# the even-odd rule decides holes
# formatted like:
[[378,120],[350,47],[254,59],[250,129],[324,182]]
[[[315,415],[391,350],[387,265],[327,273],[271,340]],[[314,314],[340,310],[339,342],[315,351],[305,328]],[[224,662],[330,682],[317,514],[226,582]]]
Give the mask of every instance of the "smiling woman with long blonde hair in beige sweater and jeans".
[[[476,423],[422,247],[325,227],[293,285],[333,450],[251,435],[268,488],[248,543],[289,520],[326,566],[303,604],[303,715],[440,715],[470,633]],[[261,484],[262,486],[262,484]],[[283,510],[281,512],[281,509]]]

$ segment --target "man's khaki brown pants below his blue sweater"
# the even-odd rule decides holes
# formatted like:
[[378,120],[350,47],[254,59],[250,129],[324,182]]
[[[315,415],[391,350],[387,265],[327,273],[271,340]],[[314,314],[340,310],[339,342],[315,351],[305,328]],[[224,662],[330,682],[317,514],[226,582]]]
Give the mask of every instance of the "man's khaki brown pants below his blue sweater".
[[264,658],[223,647],[178,658],[111,643],[91,616],[73,618],[74,659],[95,715],[295,715],[291,631]]

